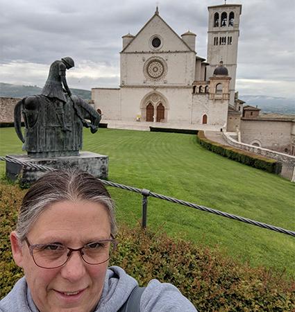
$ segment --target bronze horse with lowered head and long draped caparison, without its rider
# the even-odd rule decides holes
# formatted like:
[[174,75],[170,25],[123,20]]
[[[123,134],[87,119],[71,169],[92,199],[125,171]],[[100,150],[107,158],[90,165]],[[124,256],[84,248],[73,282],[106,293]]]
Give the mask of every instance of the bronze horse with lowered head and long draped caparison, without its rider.
[[[101,115],[78,96],[67,97],[67,102],[58,105],[44,95],[27,96],[15,105],[15,131],[24,143],[28,157],[62,157],[79,155],[83,144],[83,126],[95,133]],[[65,127],[60,114],[65,114]],[[24,119],[25,134],[22,134],[21,119]]]

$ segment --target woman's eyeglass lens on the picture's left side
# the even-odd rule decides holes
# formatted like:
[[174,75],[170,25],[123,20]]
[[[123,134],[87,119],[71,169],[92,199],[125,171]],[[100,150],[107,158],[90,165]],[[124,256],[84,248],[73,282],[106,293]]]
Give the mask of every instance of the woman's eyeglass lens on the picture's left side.
[[37,266],[56,268],[67,261],[67,248],[63,245],[37,245],[33,249],[33,258]]

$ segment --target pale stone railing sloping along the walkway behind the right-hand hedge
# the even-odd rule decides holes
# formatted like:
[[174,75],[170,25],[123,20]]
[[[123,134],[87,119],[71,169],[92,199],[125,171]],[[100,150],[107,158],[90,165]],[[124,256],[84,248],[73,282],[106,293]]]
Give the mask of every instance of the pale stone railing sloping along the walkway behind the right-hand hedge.
[[222,132],[222,135],[230,146],[234,146],[235,148],[240,148],[242,150],[248,150],[248,152],[262,155],[264,157],[269,157],[271,159],[276,159],[278,160],[278,162],[283,162],[284,164],[292,164],[295,166],[295,156],[279,153],[275,150],[269,150],[267,148],[261,148],[259,146],[253,146],[250,144],[238,142],[226,132]]

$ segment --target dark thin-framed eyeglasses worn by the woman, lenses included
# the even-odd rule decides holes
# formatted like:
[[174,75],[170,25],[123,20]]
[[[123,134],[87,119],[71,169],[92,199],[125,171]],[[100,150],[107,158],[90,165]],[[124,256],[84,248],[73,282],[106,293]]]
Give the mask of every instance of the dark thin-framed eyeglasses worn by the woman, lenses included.
[[112,235],[111,237],[112,239],[94,241],[77,249],[66,247],[60,243],[31,245],[26,237],[24,240],[36,266],[59,268],[69,260],[72,252],[80,252],[81,258],[87,264],[96,265],[108,261],[118,244]]

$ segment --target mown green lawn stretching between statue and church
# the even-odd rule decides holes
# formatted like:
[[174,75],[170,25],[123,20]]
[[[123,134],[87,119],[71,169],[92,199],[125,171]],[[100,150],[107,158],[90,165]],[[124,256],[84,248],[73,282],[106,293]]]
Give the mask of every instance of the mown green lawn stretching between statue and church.
[[[109,180],[295,230],[294,183],[215,155],[196,144],[194,135],[100,129],[95,135],[85,130],[84,141],[83,150],[110,157]],[[0,129],[0,146],[0,155],[22,153],[12,128]],[[141,196],[109,190],[119,222],[135,225]],[[148,226],[295,275],[291,236],[155,198],[149,198]]]

